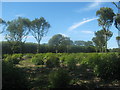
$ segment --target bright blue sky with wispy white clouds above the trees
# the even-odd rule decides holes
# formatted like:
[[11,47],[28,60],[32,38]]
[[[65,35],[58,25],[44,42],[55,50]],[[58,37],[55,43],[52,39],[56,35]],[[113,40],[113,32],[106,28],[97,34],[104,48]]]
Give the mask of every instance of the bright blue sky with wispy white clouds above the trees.
[[[94,32],[101,29],[98,26],[96,11],[100,7],[111,7],[115,13],[117,8],[110,2],[3,2],[2,18],[5,21],[13,20],[19,16],[33,20],[44,17],[51,25],[47,36],[41,43],[47,43],[55,34],[63,34],[71,40],[90,41]],[[118,30],[112,25],[112,38],[108,41],[108,48],[116,48],[115,37]],[[4,35],[2,35],[4,39]],[[36,42],[29,35],[27,42]]]

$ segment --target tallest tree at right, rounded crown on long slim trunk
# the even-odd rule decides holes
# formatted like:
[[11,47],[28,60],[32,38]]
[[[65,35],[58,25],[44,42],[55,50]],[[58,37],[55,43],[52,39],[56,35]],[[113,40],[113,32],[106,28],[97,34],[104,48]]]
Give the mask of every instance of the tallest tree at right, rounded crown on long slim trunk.
[[102,7],[96,12],[96,15],[99,16],[98,25],[102,27],[105,33],[105,52],[107,52],[107,37],[110,26],[113,23],[113,17],[115,16],[113,10],[108,7]]

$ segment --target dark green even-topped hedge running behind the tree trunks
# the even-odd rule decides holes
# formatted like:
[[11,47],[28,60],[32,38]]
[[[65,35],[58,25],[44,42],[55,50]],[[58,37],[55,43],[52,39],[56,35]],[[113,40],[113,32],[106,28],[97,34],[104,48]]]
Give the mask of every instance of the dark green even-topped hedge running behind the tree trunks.
[[[2,43],[2,54],[12,54],[11,46],[8,42],[0,42]],[[37,50],[36,43],[24,43],[22,46],[22,53],[36,53]],[[15,53],[20,53],[18,48],[15,48]],[[56,49],[53,46],[49,46],[48,44],[41,44],[39,48],[40,53],[55,53]],[[60,48],[58,48],[59,53],[80,53],[80,52],[95,52],[94,46],[77,46],[77,45],[61,45]]]

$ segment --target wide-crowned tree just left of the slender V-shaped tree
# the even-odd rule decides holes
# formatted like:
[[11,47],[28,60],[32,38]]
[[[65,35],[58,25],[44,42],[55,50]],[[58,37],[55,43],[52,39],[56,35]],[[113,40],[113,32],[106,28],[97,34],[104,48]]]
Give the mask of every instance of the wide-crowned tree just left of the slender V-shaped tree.
[[25,42],[29,34],[30,21],[27,18],[18,17],[12,21],[7,22],[6,39],[10,43],[13,53],[15,49],[22,48],[22,43]]

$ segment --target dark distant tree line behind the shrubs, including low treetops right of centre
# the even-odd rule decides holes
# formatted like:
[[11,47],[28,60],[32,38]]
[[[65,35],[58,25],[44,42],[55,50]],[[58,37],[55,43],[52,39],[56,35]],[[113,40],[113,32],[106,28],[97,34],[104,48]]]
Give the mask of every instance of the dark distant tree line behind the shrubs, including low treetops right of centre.
[[[66,41],[63,41],[66,42]],[[63,43],[61,42],[61,43]],[[76,42],[79,42],[78,44],[75,44]],[[79,45],[83,44],[85,42],[85,45]],[[79,52],[96,52],[95,46],[89,44],[91,41],[75,41],[71,44],[59,44],[59,46],[55,47],[51,45],[50,43],[46,44],[40,44],[39,53],[79,53]],[[7,41],[0,42],[2,43],[2,54],[12,54],[13,51],[11,50],[10,43]],[[67,43],[67,42],[66,42]],[[88,44],[87,44],[88,43]],[[55,44],[55,43],[54,43]],[[91,45],[91,46],[89,46]],[[20,48],[16,48],[14,53],[36,53],[37,51],[37,43],[24,43],[22,45],[22,49],[20,52]]]

